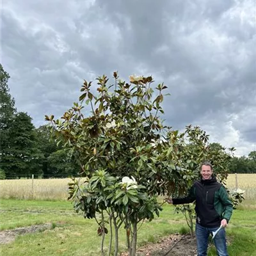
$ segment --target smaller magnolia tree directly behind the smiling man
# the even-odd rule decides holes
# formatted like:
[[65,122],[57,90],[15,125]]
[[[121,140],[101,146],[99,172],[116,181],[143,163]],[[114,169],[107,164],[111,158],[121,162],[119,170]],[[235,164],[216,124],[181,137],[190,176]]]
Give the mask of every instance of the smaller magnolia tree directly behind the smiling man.
[[[189,184],[187,190],[183,194],[175,196],[182,196],[188,193],[188,189],[192,186],[193,182],[200,179],[200,164],[206,160],[211,161],[214,175],[226,187],[230,160],[234,155],[234,148],[224,148],[218,143],[209,143],[209,134],[206,134],[200,127],[192,127],[191,125],[187,126],[186,130],[182,133],[177,131],[171,132],[169,140],[172,145],[177,145],[174,163],[179,164],[182,162],[184,168],[191,173],[191,184]],[[229,191],[227,189],[227,191],[230,200],[234,204],[234,209],[236,209],[239,202],[244,200],[244,191],[241,191],[241,189],[239,191]],[[195,203],[177,205],[175,206],[175,212],[182,212],[184,214],[190,234],[193,236]]]

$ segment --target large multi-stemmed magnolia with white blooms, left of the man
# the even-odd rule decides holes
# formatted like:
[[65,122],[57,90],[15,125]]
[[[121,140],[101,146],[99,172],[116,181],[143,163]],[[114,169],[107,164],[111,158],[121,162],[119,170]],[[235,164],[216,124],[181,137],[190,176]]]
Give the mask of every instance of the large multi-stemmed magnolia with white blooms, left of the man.
[[[102,255],[118,255],[120,227],[126,230],[129,255],[135,255],[138,224],[162,210],[157,196],[184,193],[195,173],[179,159],[179,143],[169,140],[177,132],[159,117],[167,87],[158,84],[154,91],[150,76],[131,76],[129,83],[116,72],[113,76],[114,84],[106,76],[97,78],[96,90],[84,81],[79,103],[60,119],[51,115],[45,120],[86,177],[82,184],[70,182],[69,199],[84,218],[97,221]],[[91,108],[88,115],[86,104]]]

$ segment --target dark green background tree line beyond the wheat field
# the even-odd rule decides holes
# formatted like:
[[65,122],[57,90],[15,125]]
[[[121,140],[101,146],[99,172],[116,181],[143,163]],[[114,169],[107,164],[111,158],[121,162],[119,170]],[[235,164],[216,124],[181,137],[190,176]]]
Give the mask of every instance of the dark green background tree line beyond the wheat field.
[[[56,145],[50,128],[36,128],[28,113],[17,111],[9,78],[0,64],[0,179],[29,178],[32,174],[43,178],[76,176],[79,164],[61,144]],[[209,147],[223,148],[220,143],[210,143]],[[234,157],[230,173],[256,173],[256,151]]]

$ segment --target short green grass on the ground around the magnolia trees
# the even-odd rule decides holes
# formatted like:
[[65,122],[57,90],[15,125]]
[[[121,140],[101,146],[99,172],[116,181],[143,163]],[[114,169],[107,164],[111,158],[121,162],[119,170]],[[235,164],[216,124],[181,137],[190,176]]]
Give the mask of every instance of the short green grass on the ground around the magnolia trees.
[[[252,202],[252,205],[254,202]],[[251,205],[251,204],[250,204]],[[1,230],[52,223],[52,228],[17,236],[14,242],[2,244],[0,255],[100,255],[100,240],[94,220],[77,215],[70,202],[1,200]],[[256,255],[255,209],[239,207],[227,228],[230,256]],[[140,226],[140,225],[139,225]],[[157,241],[169,234],[188,232],[182,214],[164,205],[160,218],[145,221],[138,233],[138,246]],[[108,235],[106,246],[108,246]],[[124,228],[120,230],[120,251],[125,250]],[[253,254],[254,253],[254,254]],[[216,255],[214,248],[209,255]]]

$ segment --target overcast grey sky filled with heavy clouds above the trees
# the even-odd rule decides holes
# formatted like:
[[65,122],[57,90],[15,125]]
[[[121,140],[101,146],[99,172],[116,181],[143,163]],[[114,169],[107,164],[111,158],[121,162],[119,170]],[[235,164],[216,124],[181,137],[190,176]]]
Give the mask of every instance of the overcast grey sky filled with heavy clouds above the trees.
[[166,84],[166,124],[256,150],[255,0],[1,0],[1,63],[18,111],[60,117],[83,79]]

